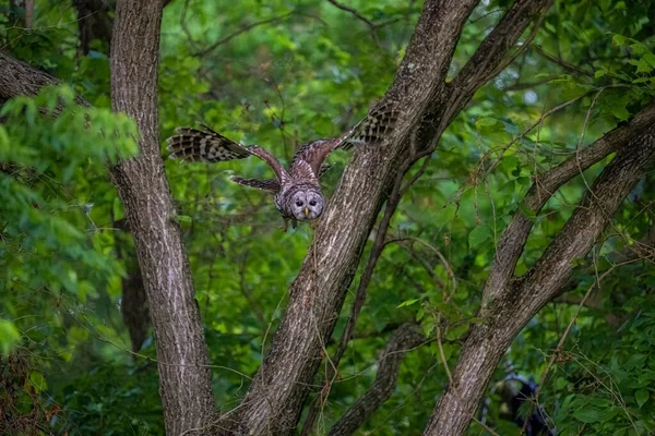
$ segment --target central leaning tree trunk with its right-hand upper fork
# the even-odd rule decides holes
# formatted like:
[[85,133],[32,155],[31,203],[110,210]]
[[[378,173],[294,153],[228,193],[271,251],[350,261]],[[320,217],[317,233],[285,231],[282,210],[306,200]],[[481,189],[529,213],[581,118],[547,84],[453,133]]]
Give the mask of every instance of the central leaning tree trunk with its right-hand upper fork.
[[446,85],[455,45],[476,3],[425,2],[405,59],[382,99],[393,101],[401,110],[398,128],[382,146],[357,150],[346,168],[290,286],[286,313],[262,367],[239,410],[224,416],[224,425],[237,423],[230,434],[294,432],[323,344],[332,334],[388,189],[412,162],[431,153],[453,117],[497,71],[508,50],[550,1],[516,1],[480,45],[469,62],[472,66],[467,64]]

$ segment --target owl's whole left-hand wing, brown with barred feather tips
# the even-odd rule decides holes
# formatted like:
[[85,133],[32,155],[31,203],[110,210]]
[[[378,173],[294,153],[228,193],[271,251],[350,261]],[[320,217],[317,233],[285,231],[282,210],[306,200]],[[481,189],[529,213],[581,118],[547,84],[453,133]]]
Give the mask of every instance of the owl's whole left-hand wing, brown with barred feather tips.
[[189,161],[218,162],[243,159],[254,155],[271,167],[279,183],[284,183],[288,179],[286,170],[277,158],[266,149],[257,145],[241,145],[214,132],[206,125],[202,128],[204,130],[177,128],[175,130],[177,135],[166,141],[168,143],[166,149],[170,152],[169,157]]

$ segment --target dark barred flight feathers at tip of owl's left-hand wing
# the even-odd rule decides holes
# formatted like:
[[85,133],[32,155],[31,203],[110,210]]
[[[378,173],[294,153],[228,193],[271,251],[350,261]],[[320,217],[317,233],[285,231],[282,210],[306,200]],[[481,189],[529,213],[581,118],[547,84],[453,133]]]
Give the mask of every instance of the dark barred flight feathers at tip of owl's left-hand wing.
[[242,159],[250,152],[240,144],[203,126],[205,131],[191,128],[177,128],[177,135],[166,140],[166,149],[171,159],[188,161],[216,162],[221,160]]

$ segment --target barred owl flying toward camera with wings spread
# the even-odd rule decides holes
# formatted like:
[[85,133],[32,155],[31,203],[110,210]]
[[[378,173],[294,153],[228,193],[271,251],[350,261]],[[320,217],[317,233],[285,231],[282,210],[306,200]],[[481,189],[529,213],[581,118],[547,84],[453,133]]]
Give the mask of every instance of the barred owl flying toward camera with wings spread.
[[218,162],[257,156],[271,167],[275,179],[243,179],[233,175],[233,182],[257,187],[274,195],[273,201],[285,220],[312,220],[321,216],[325,198],[319,179],[330,168],[325,158],[335,149],[349,149],[354,145],[380,143],[393,129],[396,112],[391,105],[377,108],[357,125],[338,137],[318,140],[305,144],[294,156],[288,169],[269,150],[258,145],[242,145],[206,125],[202,130],[177,128],[177,135],[167,140],[169,158],[183,161]]

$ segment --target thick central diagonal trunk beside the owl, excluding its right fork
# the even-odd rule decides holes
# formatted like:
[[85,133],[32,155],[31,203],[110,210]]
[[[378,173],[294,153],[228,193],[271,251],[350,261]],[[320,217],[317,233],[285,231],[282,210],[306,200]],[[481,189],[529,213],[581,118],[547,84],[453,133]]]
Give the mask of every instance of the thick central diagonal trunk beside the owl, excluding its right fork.
[[237,412],[240,432],[289,434],[296,427],[367,235],[407,158],[405,144],[425,109],[440,95],[456,40],[475,4],[474,0],[426,1],[407,55],[381,102],[393,101],[410,122],[398,122],[384,147],[355,153],[290,286],[271,350]]

